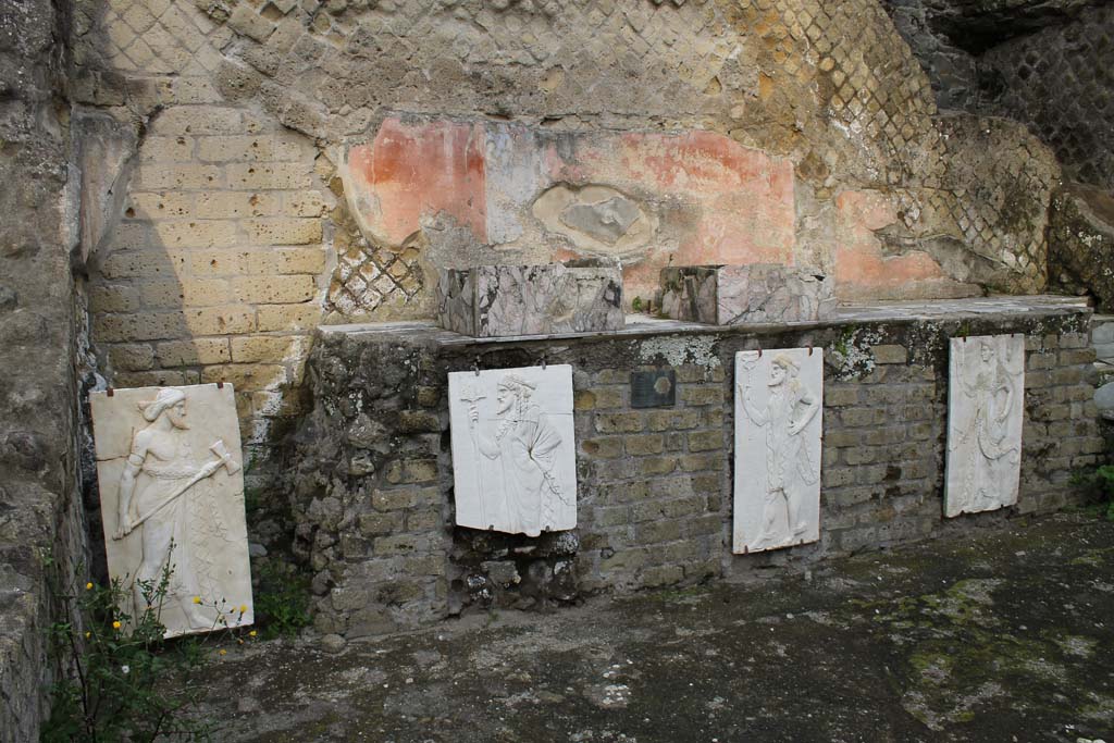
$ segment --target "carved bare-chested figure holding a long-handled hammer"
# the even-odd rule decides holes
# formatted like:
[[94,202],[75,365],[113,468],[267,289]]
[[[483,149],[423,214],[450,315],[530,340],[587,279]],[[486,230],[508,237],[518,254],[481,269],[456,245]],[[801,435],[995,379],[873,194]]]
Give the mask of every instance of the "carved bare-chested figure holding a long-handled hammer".
[[[240,465],[221,440],[209,447],[217,459],[204,465],[195,461],[184,434],[189,426],[186,395],[182,390],[162,389],[154,400],[139,407],[148,424],[133,438],[120,475],[117,528],[113,538],[124,539],[143,527],[143,559],[133,587],[136,612],[146,606],[143,585],[157,585],[169,564],[172,575],[166,598],[180,607],[190,628],[204,629],[213,626],[214,618],[206,616],[194,603],[194,597],[207,593],[202,589],[198,578],[199,573],[207,571],[213,556],[195,544],[198,535],[190,528],[190,517],[208,511],[209,519],[219,519],[219,511],[213,504],[199,502],[202,490],[218,469],[223,467],[232,475]],[[141,479],[145,485],[137,488],[140,476],[145,476]]]

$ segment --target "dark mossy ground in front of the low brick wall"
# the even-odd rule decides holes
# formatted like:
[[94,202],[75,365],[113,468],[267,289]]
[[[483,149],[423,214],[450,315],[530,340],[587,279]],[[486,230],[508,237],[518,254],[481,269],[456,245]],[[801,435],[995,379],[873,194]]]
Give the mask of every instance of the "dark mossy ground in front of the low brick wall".
[[1114,524],[1013,519],[745,585],[235,646],[229,741],[1114,741]]

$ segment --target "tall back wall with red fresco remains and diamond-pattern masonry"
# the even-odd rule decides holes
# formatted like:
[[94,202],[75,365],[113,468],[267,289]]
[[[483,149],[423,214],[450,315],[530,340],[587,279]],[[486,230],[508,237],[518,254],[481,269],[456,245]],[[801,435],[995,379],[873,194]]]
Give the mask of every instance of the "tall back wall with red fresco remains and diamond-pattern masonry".
[[[661,219],[594,244],[631,287],[675,248],[856,301],[1046,284],[1059,166],[1019,126],[938,116],[876,0],[78,0],[68,42],[75,114],[115,141],[82,182],[98,372],[234,382],[261,489],[315,326],[430,317],[448,265],[587,250],[539,174]],[[635,172],[592,156],[624,141]]]

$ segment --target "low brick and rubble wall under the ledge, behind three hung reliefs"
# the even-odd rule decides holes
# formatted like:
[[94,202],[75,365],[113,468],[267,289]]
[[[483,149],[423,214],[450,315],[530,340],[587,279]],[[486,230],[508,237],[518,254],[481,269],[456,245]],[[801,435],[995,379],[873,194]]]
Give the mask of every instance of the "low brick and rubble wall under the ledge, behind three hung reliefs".
[[[488,342],[420,323],[322,329],[314,410],[291,468],[317,627],[356,637],[469,607],[737,577],[1000,519],[941,517],[947,340],[957,335],[1026,334],[1022,492],[1007,511],[1063,507],[1078,498],[1071,472],[1103,451],[1088,316],[1038,297]],[[734,353],[809,345],[827,366],[821,541],[733,557]],[[530,539],[453,527],[448,372],[543,358],[574,368],[577,529]],[[661,368],[676,373],[676,404],[633,408],[631,372]]]

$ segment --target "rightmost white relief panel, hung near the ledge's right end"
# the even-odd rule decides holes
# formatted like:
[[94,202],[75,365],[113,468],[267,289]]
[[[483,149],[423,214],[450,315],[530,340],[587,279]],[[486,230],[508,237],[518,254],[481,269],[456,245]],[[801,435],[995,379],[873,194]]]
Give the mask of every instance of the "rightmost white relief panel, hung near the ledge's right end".
[[948,517],[1017,502],[1025,416],[1025,336],[951,339]]

